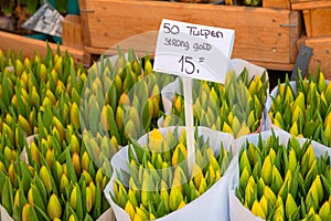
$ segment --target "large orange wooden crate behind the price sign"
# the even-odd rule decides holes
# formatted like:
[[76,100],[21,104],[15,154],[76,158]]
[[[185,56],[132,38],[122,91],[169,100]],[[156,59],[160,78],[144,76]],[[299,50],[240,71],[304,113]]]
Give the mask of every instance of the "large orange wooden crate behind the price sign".
[[[298,11],[167,1],[79,0],[85,50],[100,54],[122,40],[157,31],[161,20],[235,29],[234,57],[267,69],[291,70],[301,33]],[[157,34],[137,41],[135,50],[152,51]]]

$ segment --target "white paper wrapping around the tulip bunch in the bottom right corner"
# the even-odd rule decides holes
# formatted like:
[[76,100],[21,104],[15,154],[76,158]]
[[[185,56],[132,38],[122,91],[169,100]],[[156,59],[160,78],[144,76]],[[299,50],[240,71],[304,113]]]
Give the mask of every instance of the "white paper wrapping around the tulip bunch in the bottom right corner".
[[[279,137],[279,143],[287,146],[288,140],[291,138],[291,135],[282,129],[274,128],[275,135]],[[266,130],[260,133],[263,140],[267,140],[269,136],[271,136],[273,130]],[[248,136],[241,137],[236,140],[234,140],[233,146],[235,146],[236,149],[238,147],[242,147],[243,144],[246,141],[253,143],[254,145],[258,145],[258,137],[259,134],[252,134]],[[300,146],[305,144],[307,140],[306,138],[297,138]],[[325,152],[328,152],[329,156],[331,156],[331,149],[325,148],[325,146],[317,143],[311,141],[311,146],[313,148],[316,157],[323,156]],[[238,157],[238,155],[236,156]],[[245,208],[238,198],[235,196],[235,189],[239,186],[239,164],[238,159],[236,160],[236,165],[233,168],[233,176],[231,178],[229,182],[229,218],[231,221],[259,221],[263,220],[259,217],[255,217],[247,208]]]

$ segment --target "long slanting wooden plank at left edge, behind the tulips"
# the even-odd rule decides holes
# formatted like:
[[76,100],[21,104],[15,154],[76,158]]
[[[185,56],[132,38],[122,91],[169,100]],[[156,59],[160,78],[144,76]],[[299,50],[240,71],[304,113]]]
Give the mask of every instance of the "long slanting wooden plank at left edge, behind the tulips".
[[[57,44],[49,43],[53,52],[57,50]],[[41,56],[46,55],[46,42],[29,39],[25,36],[11,34],[0,31],[0,49],[3,51],[10,50],[15,53],[22,52],[23,56],[34,57],[34,50],[38,51]],[[75,62],[82,63],[84,65],[90,64],[90,55],[86,54],[83,50],[77,50],[70,46],[61,46],[61,52],[65,53],[67,51],[75,60]]]

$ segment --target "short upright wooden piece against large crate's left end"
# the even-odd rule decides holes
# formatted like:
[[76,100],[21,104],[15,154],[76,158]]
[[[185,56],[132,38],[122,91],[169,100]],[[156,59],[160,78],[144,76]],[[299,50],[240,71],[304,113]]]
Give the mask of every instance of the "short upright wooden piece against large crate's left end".
[[81,17],[68,14],[62,21],[62,43],[65,46],[83,49],[83,33],[81,25]]

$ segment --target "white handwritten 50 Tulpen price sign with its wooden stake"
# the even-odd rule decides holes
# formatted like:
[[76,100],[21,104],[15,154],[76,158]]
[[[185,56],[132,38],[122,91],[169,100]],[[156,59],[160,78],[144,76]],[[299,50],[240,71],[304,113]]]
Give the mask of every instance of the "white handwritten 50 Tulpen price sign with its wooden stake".
[[195,162],[193,78],[224,83],[231,69],[234,30],[163,19],[159,30],[153,71],[183,78],[188,166]]

